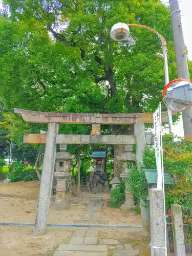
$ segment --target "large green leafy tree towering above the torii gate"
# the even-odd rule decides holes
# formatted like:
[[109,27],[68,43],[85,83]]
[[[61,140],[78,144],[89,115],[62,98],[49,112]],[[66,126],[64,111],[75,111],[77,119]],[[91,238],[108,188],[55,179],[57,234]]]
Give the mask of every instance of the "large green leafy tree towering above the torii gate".
[[[155,56],[160,42],[141,28],[132,28],[131,37],[123,42],[113,41],[110,30],[117,22],[155,24],[168,41],[170,78],[176,77],[169,11],[160,1],[4,0],[4,10],[0,89],[9,110],[153,112],[164,87],[163,61]],[[133,133],[132,125],[104,129]],[[60,130],[90,134],[89,125],[63,125]],[[123,150],[114,146],[117,176],[116,156]]]

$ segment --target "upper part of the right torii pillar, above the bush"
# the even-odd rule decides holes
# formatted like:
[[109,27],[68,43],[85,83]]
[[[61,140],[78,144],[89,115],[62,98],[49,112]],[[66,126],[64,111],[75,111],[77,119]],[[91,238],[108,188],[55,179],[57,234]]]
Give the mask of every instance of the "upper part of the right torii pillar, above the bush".
[[134,124],[134,134],[136,137],[136,162],[137,164],[143,164],[143,152],[145,150],[146,138],[145,138],[145,125],[144,123]]

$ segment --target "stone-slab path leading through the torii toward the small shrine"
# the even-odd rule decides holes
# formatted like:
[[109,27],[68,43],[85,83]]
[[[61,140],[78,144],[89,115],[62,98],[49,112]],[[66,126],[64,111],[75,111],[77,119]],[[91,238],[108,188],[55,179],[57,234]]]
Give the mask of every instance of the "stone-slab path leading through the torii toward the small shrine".
[[[103,202],[102,195],[96,194],[90,197],[90,202],[84,209],[82,220],[98,220]],[[134,256],[139,250],[133,250],[130,244],[125,247],[118,245],[114,239],[99,239],[99,231],[96,229],[75,230],[69,244],[60,244],[53,256],[108,256],[109,250],[113,250],[115,256]]]

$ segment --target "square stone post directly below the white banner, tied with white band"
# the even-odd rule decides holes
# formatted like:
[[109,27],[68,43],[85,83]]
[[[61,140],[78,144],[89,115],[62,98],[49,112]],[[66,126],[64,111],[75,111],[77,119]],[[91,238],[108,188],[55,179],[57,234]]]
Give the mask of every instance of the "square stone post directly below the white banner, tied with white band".
[[150,196],[150,226],[151,255],[165,256],[165,221],[163,212],[163,191],[157,188],[149,189]]

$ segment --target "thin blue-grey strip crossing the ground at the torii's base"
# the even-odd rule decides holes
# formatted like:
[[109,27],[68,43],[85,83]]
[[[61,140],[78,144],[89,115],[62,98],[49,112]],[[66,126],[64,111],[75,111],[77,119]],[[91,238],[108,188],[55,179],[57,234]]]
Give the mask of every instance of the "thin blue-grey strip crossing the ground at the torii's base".
[[[0,226],[35,226],[33,223],[6,223],[0,222]],[[84,224],[48,224],[48,227],[86,227],[86,228],[127,228],[142,229],[142,226],[123,226],[123,225],[84,225]]]

